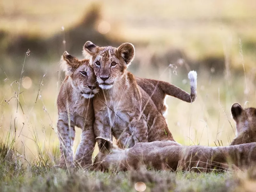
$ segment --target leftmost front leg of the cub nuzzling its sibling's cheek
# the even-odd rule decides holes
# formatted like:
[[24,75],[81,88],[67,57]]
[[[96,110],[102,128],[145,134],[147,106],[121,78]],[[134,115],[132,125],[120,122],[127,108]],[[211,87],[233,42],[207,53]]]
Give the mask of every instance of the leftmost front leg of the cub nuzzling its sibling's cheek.
[[[70,121],[70,125],[68,121]],[[75,140],[75,125],[67,113],[63,112],[59,114],[57,130],[60,140],[60,167],[72,167],[74,166],[73,145]]]

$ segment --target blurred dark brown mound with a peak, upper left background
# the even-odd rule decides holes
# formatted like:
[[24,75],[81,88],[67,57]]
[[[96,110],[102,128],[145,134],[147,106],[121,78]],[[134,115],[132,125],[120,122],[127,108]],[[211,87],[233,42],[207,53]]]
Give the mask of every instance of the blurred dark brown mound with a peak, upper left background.
[[[15,53],[23,57],[24,50],[29,48],[32,50],[32,57],[47,58],[49,60],[53,59],[54,56],[60,55],[63,50],[81,53],[80,47],[83,46],[87,39],[101,44],[119,44],[118,40],[110,40],[106,35],[96,30],[95,24],[99,19],[100,8],[97,4],[92,4],[78,24],[67,27],[65,31],[60,30],[60,32],[47,38],[29,34],[10,35],[0,31],[1,49],[7,54]],[[63,33],[65,34],[64,36]],[[62,49],[60,49],[61,47]]]

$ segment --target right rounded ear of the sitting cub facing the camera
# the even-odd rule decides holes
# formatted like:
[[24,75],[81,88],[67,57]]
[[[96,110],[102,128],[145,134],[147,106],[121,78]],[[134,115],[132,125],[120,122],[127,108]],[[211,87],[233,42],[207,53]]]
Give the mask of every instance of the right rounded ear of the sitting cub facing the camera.
[[135,54],[135,48],[131,43],[123,43],[117,48],[116,54],[122,57],[127,65],[130,65]]

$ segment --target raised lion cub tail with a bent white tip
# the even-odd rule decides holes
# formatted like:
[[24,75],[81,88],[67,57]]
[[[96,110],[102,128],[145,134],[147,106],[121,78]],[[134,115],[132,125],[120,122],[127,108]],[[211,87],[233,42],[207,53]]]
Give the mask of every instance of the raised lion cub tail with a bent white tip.
[[180,100],[186,101],[188,103],[192,103],[196,100],[196,85],[197,85],[197,73],[196,71],[190,71],[188,73],[188,79],[190,81],[190,94],[179,87],[167,83],[167,82],[161,82],[159,83],[159,86],[161,87],[162,91],[166,95],[170,95],[172,97],[176,97]]

